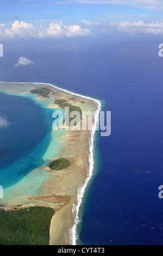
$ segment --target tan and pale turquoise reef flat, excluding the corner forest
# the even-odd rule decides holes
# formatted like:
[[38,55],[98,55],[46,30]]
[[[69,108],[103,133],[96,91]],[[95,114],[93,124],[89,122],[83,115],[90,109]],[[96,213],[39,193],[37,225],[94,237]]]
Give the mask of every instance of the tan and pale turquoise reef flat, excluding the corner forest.
[[[2,209],[12,209],[17,205],[52,209],[55,214],[48,230],[49,244],[76,244],[79,207],[93,170],[93,138],[100,102],[43,83],[3,82],[0,83],[0,92],[28,97],[40,107],[52,111],[57,111],[59,108],[64,111],[65,106],[69,106],[70,112],[80,109],[80,112],[97,113],[93,131],[51,129],[51,142],[43,155],[42,166],[33,169],[16,184],[5,188],[4,199],[0,200]],[[51,127],[52,122],[53,118],[49,122]],[[61,165],[64,164],[61,167],[64,168],[50,169],[49,164],[53,163],[55,166],[57,159],[65,159],[68,162],[61,161]],[[37,216],[37,213],[35,215]],[[47,240],[43,242],[47,243]],[[35,240],[34,243],[38,244],[39,241]],[[42,244],[41,240],[40,244]]]

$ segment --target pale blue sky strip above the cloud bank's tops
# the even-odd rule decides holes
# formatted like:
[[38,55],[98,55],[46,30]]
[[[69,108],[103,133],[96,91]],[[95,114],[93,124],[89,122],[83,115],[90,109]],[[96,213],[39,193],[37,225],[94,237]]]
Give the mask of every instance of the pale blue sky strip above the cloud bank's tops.
[[161,19],[163,0],[1,0],[0,22],[15,20],[46,23],[51,20],[65,22],[106,22],[113,20],[152,21]]

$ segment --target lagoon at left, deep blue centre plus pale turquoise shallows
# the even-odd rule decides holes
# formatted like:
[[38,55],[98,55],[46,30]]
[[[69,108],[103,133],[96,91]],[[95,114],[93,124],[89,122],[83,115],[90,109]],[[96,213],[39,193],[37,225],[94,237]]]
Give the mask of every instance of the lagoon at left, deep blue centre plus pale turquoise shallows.
[[48,108],[48,99],[39,100],[32,94],[4,94],[0,89],[0,117],[9,124],[0,128],[4,204],[27,203],[28,197],[35,196],[51,175],[43,167],[58,156],[63,133],[52,130],[54,111]]

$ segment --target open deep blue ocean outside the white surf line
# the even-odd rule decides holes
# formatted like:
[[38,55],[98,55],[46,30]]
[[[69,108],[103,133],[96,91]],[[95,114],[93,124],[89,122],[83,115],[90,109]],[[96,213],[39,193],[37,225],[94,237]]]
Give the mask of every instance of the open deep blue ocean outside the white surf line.
[[[4,42],[8,54],[0,59],[0,81],[57,84],[101,99],[103,110],[111,111],[111,136],[98,133],[96,176],[83,203],[84,244],[163,243],[161,42],[116,35]],[[13,68],[20,56],[34,65]]]

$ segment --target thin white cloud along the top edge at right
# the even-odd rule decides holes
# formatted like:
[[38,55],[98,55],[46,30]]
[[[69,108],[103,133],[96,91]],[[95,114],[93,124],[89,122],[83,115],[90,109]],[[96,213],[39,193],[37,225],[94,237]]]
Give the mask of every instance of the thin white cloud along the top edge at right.
[[54,4],[115,4],[136,8],[163,9],[163,0],[56,0]]

